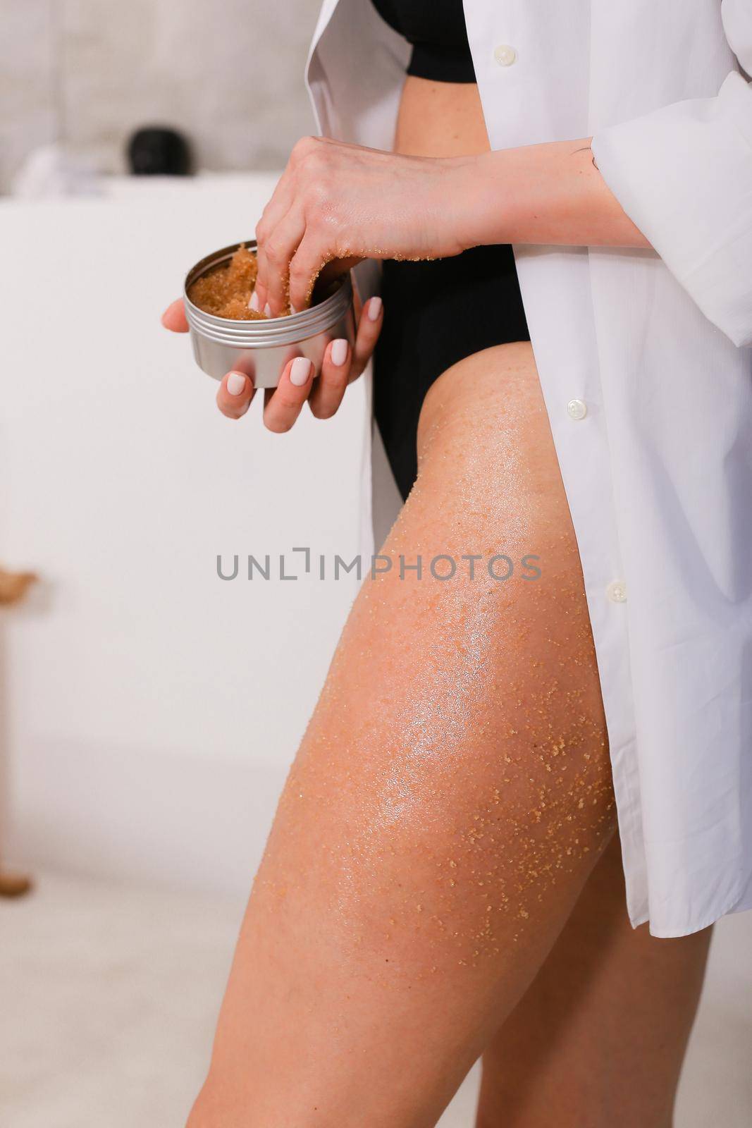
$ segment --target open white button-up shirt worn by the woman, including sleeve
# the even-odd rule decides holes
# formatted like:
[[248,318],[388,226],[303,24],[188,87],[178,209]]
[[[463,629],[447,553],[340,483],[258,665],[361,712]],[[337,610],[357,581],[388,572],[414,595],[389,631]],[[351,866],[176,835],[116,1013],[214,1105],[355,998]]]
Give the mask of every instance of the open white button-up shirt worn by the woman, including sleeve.
[[[492,148],[593,135],[655,248],[514,255],[580,546],[629,917],[683,935],[752,907],[752,0],[465,12]],[[390,149],[408,54],[371,0],[325,0],[307,69],[321,132]]]

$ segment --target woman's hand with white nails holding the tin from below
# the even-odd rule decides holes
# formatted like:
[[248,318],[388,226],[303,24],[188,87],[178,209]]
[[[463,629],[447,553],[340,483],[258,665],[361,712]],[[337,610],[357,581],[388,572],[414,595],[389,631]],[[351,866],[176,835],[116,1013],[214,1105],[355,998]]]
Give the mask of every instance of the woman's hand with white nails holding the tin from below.
[[[289,431],[308,399],[317,418],[329,418],[339,407],[345,388],[361,374],[375,347],[383,321],[381,298],[370,298],[360,311],[354,350],[344,337],[329,342],[321,372],[313,379],[313,365],[299,356],[285,365],[276,388],[266,388],[264,424],[269,431]],[[162,325],[174,333],[187,333],[183,301],[174,301],[162,314]],[[216,393],[216,406],[228,418],[245,415],[256,389],[242,372],[228,372]]]

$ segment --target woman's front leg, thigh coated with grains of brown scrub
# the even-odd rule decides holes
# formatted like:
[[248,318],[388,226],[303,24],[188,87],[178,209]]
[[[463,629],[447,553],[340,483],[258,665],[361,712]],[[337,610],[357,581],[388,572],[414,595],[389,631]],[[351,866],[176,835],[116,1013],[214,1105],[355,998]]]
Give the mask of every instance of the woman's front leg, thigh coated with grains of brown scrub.
[[418,447],[393,565],[362,585],[280,799],[191,1128],[433,1126],[613,831],[530,345],[450,369]]

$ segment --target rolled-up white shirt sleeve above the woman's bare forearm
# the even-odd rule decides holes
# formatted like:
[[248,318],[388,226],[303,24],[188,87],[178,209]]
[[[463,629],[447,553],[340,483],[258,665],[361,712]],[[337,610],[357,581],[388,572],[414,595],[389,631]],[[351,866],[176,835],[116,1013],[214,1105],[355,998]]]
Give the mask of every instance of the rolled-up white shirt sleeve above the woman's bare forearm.
[[[723,0],[724,29],[752,74],[752,2]],[[632,222],[735,345],[752,345],[752,83],[663,106],[594,133],[593,157]]]

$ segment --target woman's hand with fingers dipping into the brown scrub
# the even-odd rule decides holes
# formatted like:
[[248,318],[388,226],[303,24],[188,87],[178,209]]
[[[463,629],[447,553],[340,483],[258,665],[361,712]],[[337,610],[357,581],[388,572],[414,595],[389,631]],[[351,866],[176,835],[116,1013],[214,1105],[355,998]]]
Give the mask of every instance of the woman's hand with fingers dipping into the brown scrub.
[[292,307],[304,309],[333,259],[444,258],[471,246],[475,160],[303,138],[256,227],[256,308],[278,316],[289,284]]

